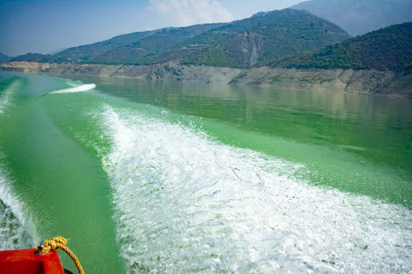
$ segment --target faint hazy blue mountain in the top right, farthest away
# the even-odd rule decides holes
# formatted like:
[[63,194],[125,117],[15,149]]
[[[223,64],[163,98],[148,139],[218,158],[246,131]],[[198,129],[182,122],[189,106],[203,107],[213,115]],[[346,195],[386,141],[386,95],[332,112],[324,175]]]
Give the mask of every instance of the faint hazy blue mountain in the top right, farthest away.
[[412,21],[411,0],[311,0],[291,8],[308,10],[352,36]]

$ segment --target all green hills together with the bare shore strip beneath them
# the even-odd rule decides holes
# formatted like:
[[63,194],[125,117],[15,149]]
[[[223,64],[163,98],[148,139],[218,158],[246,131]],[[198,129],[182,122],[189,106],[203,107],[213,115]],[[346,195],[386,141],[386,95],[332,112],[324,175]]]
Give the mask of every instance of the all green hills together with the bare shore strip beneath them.
[[412,98],[412,22],[351,38],[341,27],[306,10],[286,9],[227,24],[168,28],[133,37],[126,36],[138,39],[126,45],[121,45],[124,39],[107,40],[60,55],[27,53],[12,59],[16,62],[0,64],[0,71]]

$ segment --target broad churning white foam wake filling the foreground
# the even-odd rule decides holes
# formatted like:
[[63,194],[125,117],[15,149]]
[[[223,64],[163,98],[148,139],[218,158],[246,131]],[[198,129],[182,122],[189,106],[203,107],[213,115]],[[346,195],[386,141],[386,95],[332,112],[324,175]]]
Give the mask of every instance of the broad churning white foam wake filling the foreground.
[[407,208],[299,182],[304,166],[105,106],[130,272],[410,273]]

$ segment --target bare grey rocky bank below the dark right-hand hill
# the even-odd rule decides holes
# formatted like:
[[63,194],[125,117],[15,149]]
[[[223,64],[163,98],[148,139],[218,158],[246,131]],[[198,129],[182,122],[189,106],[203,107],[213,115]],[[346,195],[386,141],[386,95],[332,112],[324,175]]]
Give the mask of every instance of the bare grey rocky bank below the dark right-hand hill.
[[375,69],[272,69],[264,66],[243,71],[229,84],[412,98],[412,75]]

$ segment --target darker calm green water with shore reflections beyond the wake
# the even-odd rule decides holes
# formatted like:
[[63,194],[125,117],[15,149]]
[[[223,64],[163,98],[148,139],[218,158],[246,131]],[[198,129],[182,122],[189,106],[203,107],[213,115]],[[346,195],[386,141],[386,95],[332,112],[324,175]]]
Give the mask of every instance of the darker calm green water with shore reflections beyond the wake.
[[298,142],[368,149],[379,161],[412,166],[409,99],[122,78],[100,78],[99,89]]

